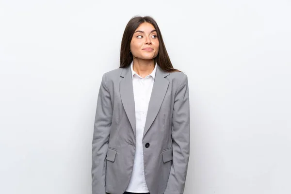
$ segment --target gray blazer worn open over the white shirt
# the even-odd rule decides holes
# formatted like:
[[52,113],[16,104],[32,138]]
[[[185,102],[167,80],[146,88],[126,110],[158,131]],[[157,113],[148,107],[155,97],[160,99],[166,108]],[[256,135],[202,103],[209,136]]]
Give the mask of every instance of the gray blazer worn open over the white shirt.
[[[143,136],[150,194],[183,194],[190,146],[187,75],[157,66]],[[135,106],[130,66],[102,77],[93,134],[93,194],[123,194],[135,154]]]

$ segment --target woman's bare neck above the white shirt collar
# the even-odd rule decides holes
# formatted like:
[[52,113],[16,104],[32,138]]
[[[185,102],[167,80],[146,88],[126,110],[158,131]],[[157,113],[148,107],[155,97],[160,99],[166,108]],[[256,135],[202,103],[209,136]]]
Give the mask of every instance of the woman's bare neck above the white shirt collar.
[[138,75],[142,78],[145,78],[147,75],[151,74],[155,68],[155,61],[151,60],[144,60],[144,59],[133,59],[133,71],[135,71]]

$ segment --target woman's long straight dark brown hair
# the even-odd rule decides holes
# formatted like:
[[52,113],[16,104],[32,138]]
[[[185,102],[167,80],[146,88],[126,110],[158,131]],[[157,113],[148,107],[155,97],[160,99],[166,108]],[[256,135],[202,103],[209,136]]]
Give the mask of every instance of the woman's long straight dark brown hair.
[[134,31],[143,23],[148,22],[154,26],[157,31],[157,37],[160,43],[159,53],[155,57],[154,61],[162,68],[162,70],[167,72],[179,71],[174,69],[171,60],[169,58],[168,52],[162,40],[162,33],[157,22],[151,16],[134,16],[132,17],[125,27],[120,49],[120,67],[125,68],[129,66],[133,60],[132,53],[130,51],[130,42]]

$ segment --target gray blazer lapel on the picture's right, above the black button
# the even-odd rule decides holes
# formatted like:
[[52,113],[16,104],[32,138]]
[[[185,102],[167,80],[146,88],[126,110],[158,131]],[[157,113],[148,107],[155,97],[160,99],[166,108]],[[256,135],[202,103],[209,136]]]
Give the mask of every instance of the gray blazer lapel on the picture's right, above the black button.
[[[165,79],[165,77],[169,75],[168,72],[165,72],[162,70],[162,68],[158,65],[155,75],[155,81],[152,89],[152,93],[150,96],[149,104],[148,104],[148,110],[147,110],[147,116],[146,116],[146,125],[144,129],[144,135],[145,137],[146,132],[154,122],[160,108],[162,105],[162,101],[165,97],[165,94],[168,89],[169,81]],[[131,83],[132,85],[132,83]]]

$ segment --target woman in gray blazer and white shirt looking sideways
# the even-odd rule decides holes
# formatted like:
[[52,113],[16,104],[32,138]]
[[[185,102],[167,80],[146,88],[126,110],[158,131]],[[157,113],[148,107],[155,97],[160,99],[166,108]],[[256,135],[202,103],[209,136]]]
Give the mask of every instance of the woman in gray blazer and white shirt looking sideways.
[[183,194],[189,161],[188,80],[150,16],[129,20],[120,67],[102,77],[93,134],[93,194]]

